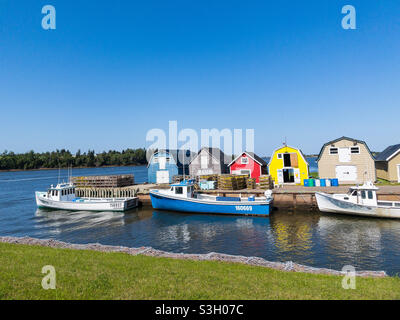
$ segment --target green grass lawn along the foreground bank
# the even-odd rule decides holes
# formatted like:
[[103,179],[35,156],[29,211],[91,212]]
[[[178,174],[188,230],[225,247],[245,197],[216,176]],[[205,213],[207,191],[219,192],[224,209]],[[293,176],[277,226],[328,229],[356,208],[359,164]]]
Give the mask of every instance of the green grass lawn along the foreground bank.
[[[53,265],[57,288],[41,273]],[[214,261],[53,249],[0,243],[0,299],[400,299],[399,278],[282,272]]]

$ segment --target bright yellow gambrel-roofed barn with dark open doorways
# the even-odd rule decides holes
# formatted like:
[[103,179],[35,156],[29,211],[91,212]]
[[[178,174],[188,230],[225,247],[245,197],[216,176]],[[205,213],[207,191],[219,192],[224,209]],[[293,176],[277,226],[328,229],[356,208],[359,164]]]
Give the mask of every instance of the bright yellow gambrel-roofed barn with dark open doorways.
[[268,163],[275,184],[301,184],[308,179],[308,162],[300,149],[284,145],[276,149]]

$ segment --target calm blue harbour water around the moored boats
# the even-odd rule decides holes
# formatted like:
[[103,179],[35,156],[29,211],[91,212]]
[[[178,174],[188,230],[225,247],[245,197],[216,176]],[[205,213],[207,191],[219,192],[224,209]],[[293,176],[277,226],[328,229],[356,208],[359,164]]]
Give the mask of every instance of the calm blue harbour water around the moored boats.
[[[146,167],[76,169],[74,175],[134,173]],[[62,171],[61,175],[65,175]],[[122,213],[37,210],[35,190],[57,183],[58,170],[0,173],[0,235],[99,242],[157,249],[259,256],[315,267],[400,273],[400,221],[275,211],[269,218],[179,214],[137,209]]]

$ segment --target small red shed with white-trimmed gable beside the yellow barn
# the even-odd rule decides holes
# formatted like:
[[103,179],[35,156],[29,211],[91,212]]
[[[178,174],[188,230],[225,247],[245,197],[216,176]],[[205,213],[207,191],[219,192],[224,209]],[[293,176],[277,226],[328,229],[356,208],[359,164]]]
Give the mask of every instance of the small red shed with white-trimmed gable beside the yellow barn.
[[231,174],[250,174],[257,182],[262,174],[267,174],[267,162],[253,152],[243,152],[229,165]]

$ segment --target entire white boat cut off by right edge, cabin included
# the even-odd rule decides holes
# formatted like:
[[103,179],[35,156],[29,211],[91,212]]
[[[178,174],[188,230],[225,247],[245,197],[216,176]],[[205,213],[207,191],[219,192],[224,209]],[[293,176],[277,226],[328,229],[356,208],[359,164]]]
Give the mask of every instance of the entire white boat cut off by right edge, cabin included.
[[400,202],[378,200],[379,190],[372,182],[349,189],[347,194],[316,192],[318,208],[323,212],[377,218],[400,218]]

